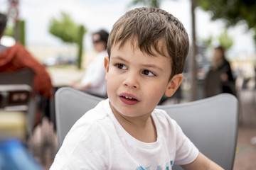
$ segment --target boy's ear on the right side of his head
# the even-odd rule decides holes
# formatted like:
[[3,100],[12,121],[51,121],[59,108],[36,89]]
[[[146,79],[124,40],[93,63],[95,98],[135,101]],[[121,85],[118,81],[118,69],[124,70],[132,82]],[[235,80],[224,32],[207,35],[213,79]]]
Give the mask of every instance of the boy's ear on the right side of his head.
[[164,94],[168,97],[173,96],[175,91],[178,89],[178,86],[181,85],[182,80],[183,80],[182,74],[174,75],[174,77],[169,81],[167,89]]

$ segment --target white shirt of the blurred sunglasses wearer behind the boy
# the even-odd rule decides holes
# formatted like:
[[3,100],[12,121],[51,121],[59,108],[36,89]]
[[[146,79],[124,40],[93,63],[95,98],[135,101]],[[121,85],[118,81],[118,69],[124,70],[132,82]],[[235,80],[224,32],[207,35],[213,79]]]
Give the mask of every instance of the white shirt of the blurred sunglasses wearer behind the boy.
[[97,96],[107,95],[107,83],[105,81],[104,57],[107,57],[107,51],[100,52],[95,59],[87,66],[85,75],[81,80],[81,84],[91,84],[85,92],[95,94]]

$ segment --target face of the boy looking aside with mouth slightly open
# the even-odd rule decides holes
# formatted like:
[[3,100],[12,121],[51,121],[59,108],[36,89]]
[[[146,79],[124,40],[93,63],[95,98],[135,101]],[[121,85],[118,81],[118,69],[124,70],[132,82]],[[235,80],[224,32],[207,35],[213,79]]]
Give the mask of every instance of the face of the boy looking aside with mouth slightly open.
[[146,55],[134,49],[130,41],[120,49],[119,44],[114,45],[110,60],[105,58],[112,111],[127,117],[150,115],[165,91],[171,96],[176,90],[172,89],[173,81],[169,81],[170,66],[169,57]]

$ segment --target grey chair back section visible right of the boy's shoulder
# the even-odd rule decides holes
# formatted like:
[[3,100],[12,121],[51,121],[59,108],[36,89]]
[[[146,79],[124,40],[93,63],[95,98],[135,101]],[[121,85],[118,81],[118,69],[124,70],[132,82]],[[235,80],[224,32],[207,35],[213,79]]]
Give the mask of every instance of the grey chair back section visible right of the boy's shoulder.
[[235,96],[218,94],[199,101],[157,108],[165,110],[176,120],[203,154],[224,169],[233,169],[238,135],[238,100]]

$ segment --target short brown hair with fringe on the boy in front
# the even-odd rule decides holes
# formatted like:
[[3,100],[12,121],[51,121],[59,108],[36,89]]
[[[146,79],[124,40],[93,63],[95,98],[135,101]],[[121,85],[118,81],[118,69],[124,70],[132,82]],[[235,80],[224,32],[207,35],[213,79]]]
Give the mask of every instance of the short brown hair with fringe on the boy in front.
[[111,47],[119,43],[121,48],[127,40],[139,50],[154,56],[154,51],[171,59],[171,76],[183,72],[188,55],[189,39],[186,29],[176,17],[160,8],[135,8],[114,23],[107,43]]

